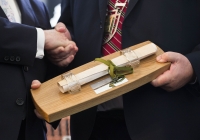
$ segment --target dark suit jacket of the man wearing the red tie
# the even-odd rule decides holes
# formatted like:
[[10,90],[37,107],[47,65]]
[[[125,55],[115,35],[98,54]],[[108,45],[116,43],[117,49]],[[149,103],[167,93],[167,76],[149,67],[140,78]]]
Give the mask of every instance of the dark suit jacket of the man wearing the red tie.
[[[65,71],[101,57],[107,0],[63,0],[64,22],[79,51]],[[164,51],[188,57],[200,79],[200,1],[130,0],[122,47],[150,40]],[[193,51],[195,49],[195,51]],[[123,96],[124,115],[133,140],[200,139],[199,85],[166,92],[146,84]],[[87,140],[96,107],[71,116],[72,140]]]

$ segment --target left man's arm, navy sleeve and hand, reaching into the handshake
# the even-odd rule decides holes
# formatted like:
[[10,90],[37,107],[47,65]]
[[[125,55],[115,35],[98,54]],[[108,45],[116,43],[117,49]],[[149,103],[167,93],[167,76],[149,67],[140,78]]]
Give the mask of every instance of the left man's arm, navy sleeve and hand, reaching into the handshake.
[[[32,66],[37,51],[37,31],[35,27],[11,23],[0,17],[0,62]],[[59,66],[68,65],[74,56],[65,55],[76,48],[74,42],[66,39],[56,30],[44,30],[44,50],[52,62]],[[75,51],[73,51],[75,55]],[[69,57],[69,58],[68,58]]]

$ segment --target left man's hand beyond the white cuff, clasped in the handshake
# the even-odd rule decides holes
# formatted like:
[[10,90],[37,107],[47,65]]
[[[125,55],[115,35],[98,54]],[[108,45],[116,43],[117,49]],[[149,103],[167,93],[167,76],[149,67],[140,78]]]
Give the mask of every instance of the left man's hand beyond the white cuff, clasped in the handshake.
[[48,58],[58,66],[71,63],[78,51],[76,44],[65,36],[65,33],[55,29],[45,30],[45,51]]

